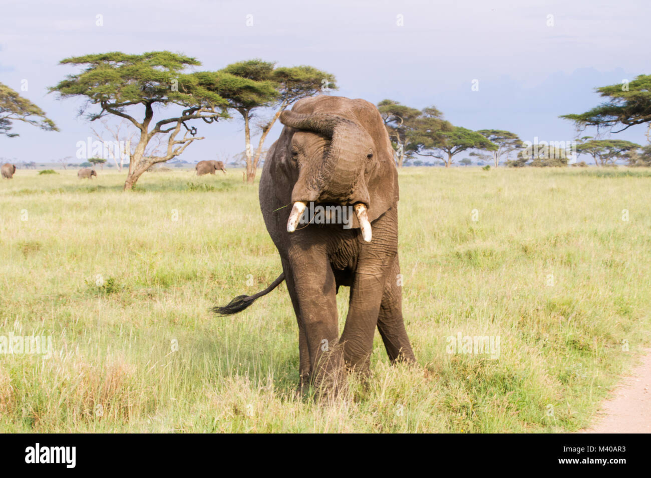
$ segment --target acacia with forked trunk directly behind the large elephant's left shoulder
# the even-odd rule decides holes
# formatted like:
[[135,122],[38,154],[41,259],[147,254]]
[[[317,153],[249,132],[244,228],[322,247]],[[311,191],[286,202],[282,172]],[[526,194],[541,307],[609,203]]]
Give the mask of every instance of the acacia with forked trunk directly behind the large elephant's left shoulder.
[[[238,111],[244,120],[244,180],[249,184],[255,180],[264,140],[284,109],[301,98],[319,93],[327,94],[330,90],[337,89],[334,75],[307,65],[276,68],[275,62],[253,59],[232,63],[221,71],[256,82],[255,90],[220,91],[229,101],[229,107]],[[258,110],[264,108],[272,108],[274,113],[270,119],[261,122],[261,135],[254,152],[251,146],[251,120]]]

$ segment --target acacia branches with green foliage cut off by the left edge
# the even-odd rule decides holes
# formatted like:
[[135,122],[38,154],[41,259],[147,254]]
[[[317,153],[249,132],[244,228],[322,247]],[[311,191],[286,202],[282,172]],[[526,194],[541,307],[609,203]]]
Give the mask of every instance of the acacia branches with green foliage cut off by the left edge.
[[9,133],[14,121],[31,124],[45,131],[59,131],[42,109],[0,83],[0,135],[17,137],[18,133]]

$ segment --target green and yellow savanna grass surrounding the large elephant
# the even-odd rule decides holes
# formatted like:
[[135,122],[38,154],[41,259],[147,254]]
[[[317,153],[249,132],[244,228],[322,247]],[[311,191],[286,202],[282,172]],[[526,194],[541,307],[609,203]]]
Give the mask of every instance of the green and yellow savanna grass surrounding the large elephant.
[[[294,396],[284,284],[208,312],[281,272],[240,171],[146,173],[133,193],[59,173],[0,182],[0,336],[53,346],[0,354],[2,432],[575,431],[649,344],[648,170],[404,168],[419,365],[389,366],[376,334],[373,377],[331,403]],[[459,333],[499,336],[499,358],[448,353]]]

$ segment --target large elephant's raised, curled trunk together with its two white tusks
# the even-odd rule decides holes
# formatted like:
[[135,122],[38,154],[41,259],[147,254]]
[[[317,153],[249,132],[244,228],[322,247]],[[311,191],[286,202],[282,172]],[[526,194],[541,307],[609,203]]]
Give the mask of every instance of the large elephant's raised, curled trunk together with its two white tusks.
[[372,138],[357,122],[337,114],[300,114],[283,111],[281,122],[285,126],[319,133],[329,139],[323,161],[299,171],[292,190],[292,212],[287,231],[294,232],[307,202],[335,202],[355,206],[363,239],[371,240],[371,227],[367,216],[370,203],[365,179],[367,160],[372,158]]

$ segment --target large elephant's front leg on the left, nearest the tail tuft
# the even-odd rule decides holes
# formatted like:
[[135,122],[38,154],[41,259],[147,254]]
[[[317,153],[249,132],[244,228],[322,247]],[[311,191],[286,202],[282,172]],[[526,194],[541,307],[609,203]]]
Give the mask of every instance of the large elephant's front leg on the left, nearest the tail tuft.
[[[299,345],[301,351],[305,347],[309,354],[311,383],[316,388],[336,393],[343,377],[343,358],[337,347],[335,276],[326,254],[315,252],[301,251],[294,257],[290,254],[290,269],[301,321],[299,333],[303,334],[304,341],[300,343],[299,336]],[[304,373],[301,365],[301,374]]]

